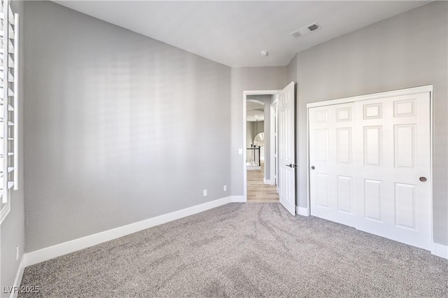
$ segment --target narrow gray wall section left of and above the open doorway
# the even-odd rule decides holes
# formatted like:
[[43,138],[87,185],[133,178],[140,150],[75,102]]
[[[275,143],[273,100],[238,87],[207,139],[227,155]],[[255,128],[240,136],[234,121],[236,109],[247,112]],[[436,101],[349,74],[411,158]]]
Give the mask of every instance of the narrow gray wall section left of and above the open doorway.
[[281,90],[288,83],[286,66],[278,67],[236,67],[232,68],[232,112],[231,112],[231,166],[232,195],[244,193],[244,160],[238,148],[244,148],[243,110],[244,90]]

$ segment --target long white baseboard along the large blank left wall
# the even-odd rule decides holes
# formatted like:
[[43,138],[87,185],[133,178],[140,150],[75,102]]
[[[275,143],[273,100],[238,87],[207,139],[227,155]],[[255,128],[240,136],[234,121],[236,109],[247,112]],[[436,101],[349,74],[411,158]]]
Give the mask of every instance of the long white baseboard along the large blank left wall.
[[35,250],[32,251],[31,253],[26,254],[25,258],[26,266],[50,260],[52,258],[59,257],[61,255],[66,255],[67,253],[73,253],[76,250],[81,250],[83,248],[95,246],[99,243],[111,241],[113,239],[117,239],[135,232],[139,232],[143,229],[155,227],[156,225],[162,225],[165,222],[170,222],[172,220],[179,220],[179,218],[185,218],[186,216],[189,215],[193,215],[196,213],[200,213],[202,211],[207,211],[212,208],[223,206],[225,204],[234,201],[234,198],[235,197],[225,197],[223,199],[209,201],[204,204],[192,206],[179,211],[174,211],[172,213],[160,215],[155,218],[149,218],[148,220],[134,222],[130,225],[124,225],[123,227],[116,227],[115,229],[109,229],[104,232],[99,232],[97,234],[92,234],[79,239],[74,239],[71,241],[57,244],[55,246],[50,246],[48,248]]

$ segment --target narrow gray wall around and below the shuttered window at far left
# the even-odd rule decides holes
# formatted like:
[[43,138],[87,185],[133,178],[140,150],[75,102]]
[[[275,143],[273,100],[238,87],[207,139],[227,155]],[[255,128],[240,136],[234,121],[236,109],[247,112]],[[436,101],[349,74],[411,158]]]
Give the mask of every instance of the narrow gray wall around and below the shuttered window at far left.
[[[19,190],[11,191],[11,211],[8,216],[3,220],[0,226],[0,297],[9,297],[3,293],[3,287],[12,286],[15,280],[15,274],[17,274],[20,260],[22,260],[23,251],[25,248],[25,214],[24,214],[24,178],[23,178],[23,108],[24,108],[24,96],[23,96],[23,2],[13,1],[11,8],[14,13],[20,15],[20,80],[19,80]],[[19,246],[19,260],[15,260],[15,248]]]

